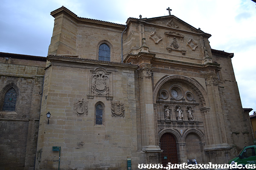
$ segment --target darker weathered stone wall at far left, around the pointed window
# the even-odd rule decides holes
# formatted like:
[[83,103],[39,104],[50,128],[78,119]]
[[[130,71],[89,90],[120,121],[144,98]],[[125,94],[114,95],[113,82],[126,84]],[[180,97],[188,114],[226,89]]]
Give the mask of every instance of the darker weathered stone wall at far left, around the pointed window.
[[[35,165],[46,61],[23,57],[30,56],[0,55],[0,168],[12,170],[30,170]],[[15,111],[3,111],[3,98],[10,88],[17,93]]]

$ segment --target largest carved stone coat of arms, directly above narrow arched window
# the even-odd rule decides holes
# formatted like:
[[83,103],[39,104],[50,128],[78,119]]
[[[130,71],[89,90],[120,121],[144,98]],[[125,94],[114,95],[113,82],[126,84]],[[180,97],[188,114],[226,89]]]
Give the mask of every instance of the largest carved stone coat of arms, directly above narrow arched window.
[[109,77],[103,71],[97,71],[92,75],[92,94],[108,95],[109,93]]

